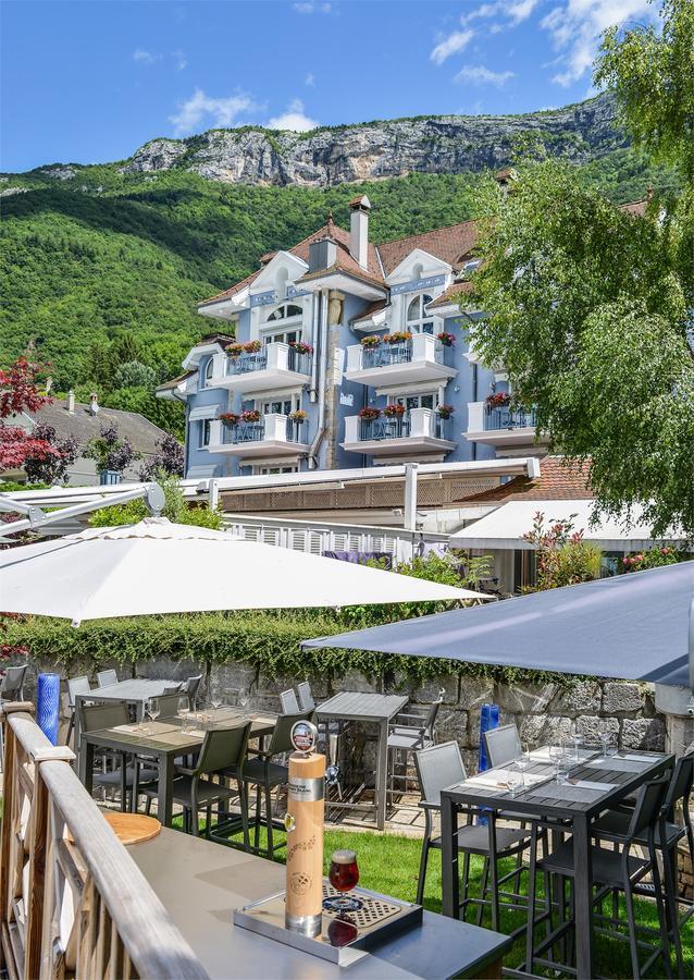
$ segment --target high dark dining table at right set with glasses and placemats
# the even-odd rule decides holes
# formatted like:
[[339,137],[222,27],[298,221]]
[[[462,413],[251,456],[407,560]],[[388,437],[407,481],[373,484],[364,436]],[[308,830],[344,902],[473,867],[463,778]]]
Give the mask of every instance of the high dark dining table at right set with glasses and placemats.
[[[472,776],[462,783],[449,786],[441,794],[442,821],[442,910],[444,915],[458,917],[459,877],[456,846],[458,816],[479,808],[487,810],[512,810],[515,818],[522,814],[529,822],[533,818],[567,821],[562,830],[573,834],[573,860],[575,867],[574,931],[577,977],[590,980],[595,977],[593,968],[593,904],[591,859],[591,822],[605,810],[614,809],[624,796],[639,788],[648,780],[654,780],[671,768],[674,757],[665,752],[622,751],[603,756],[582,751],[581,761],[570,770],[569,779],[592,784],[559,785],[554,779],[548,748],[531,754],[533,760],[525,771],[526,786],[523,792],[511,796],[505,788],[506,767],[489,769],[484,774]],[[498,773],[498,782],[494,782]],[[530,779],[529,779],[530,775]],[[536,782],[534,782],[536,780]],[[532,785],[529,783],[534,782]],[[494,833],[495,821],[489,820],[489,834]],[[492,842],[491,842],[492,843]]]

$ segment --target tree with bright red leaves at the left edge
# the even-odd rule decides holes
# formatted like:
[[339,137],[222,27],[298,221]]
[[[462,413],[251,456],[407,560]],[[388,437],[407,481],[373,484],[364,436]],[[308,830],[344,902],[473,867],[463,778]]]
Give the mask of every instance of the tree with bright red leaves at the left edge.
[[49,460],[61,456],[59,446],[37,439],[21,426],[9,426],[5,419],[21,412],[37,412],[51,400],[39,394],[36,376],[39,365],[20,357],[7,370],[0,368],[0,473],[18,469],[27,457]]

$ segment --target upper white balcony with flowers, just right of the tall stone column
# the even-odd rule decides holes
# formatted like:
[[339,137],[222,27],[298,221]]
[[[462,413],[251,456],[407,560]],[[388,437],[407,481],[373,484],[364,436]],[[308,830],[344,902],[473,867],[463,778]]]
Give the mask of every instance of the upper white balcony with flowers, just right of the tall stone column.
[[453,347],[446,347],[431,333],[416,333],[397,344],[381,342],[376,347],[354,344],[347,347],[348,381],[374,388],[432,381],[445,384],[458,373],[450,367]]

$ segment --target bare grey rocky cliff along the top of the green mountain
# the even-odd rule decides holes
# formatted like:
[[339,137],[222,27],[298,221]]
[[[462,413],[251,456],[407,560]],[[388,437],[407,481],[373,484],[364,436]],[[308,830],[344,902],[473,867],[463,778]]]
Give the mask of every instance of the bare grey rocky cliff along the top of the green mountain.
[[309,133],[244,127],[152,139],[124,173],[181,169],[225,183],[330,187],[407,173],[503,167],[523,144],[582,163],[623,146],[615,103],[598,96],[525,115],[437,115],[332,126]]

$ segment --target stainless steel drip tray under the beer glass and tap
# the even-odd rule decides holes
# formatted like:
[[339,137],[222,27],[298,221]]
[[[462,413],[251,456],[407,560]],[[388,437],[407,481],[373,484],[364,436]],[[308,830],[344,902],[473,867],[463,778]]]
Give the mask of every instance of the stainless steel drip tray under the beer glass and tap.
[[[325,879],[323,897],[332,898],[338,894]],[[284,892],[235,909],[234,924],[347,967],[365,956],[369,950],[422,921],[421,905],[367,889],[354,889],[349,894],[362,901],[362,908],[342,917],[324,909],[321,932],[315,938],[286,928]]]

